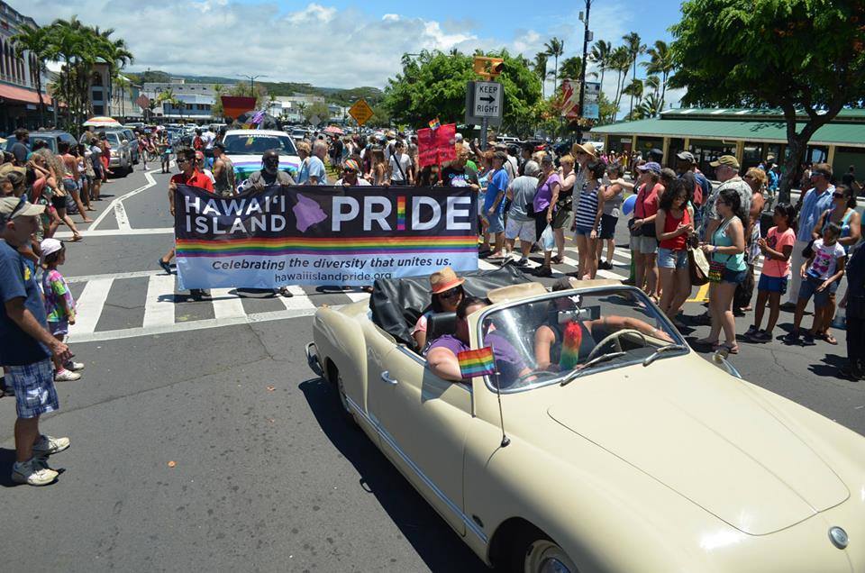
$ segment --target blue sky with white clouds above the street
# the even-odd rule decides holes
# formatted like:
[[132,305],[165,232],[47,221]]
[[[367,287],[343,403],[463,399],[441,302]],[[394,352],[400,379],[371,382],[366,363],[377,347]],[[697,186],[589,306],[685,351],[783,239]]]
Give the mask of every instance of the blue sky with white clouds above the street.
[[[132,48],[130,69],[220,75],[267,74],[270,81],[315,86],[384,87],[404,52],[506,48],[528,58],[552,36],[565,57],[582,51],[577,3],[458,0],[368,2],[318,0],[7,0],[39,23],[77,14],[114,28]],[[669,41],[679,2],[596,0],[595,40],[621,43],[638,32],[644,43]],[[552,66],[552,64],[551,64]],[[638,69],[638,76],[642,68]],[[607,74],[605,91],[613,88]],[[547,86],[547,92],[551,82]],[[672,94],[675,100],[676,95]]]

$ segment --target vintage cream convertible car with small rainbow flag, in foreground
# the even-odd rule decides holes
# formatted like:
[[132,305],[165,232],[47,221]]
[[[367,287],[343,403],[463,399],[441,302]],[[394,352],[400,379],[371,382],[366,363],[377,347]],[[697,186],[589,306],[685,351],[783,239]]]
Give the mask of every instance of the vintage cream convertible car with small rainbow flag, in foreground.
[[[498,381],[501,415],[494,379],[442,380],[413,350],[425,279],[320,309],[307,347],[347,414],[488,565],[865,571],[859,434],[701,358],[634,288],[509,294],[489,291],[527,279],[491,275],[464,288],[498,301],[468,316],[471,348],[495,331],[522,361]],[[453,320],[432,315],[428,335]],[[558,368],[574,349],[553,342],[551,368],[536,369],[535,333],[570,323],[585,332],[576,368]]]

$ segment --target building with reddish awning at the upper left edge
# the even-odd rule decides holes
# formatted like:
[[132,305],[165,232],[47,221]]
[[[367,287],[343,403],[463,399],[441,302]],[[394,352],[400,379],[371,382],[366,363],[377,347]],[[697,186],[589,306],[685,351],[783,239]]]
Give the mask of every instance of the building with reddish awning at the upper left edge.
[[53,123],[51,97],[46,93],[48,77],[41,63],[29,51],[15,55],[12,38],[23,25],[37,27],[30,16],[17,12],[0,0],[0,132],[10,133],[19,127],[35,129],[40,123],[40,94],[36,75],[41,74],[42,101],[46,106],[46,123]]

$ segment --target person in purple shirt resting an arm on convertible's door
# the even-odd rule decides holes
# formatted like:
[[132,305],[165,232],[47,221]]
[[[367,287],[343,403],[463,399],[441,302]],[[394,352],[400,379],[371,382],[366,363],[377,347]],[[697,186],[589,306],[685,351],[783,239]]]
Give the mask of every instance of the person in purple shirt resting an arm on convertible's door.
[[[466,296],[457,306],[457,331],[454,334],[444,334],[432,341],[426,351],[426,361],[432,374],[445,380],[462,382],[460,360],[457,354],[471,350],[469,346],[469,322],[466,317],[487,306],[483,299]],[[489,332],[484,342],[493,348],[496,359],[496,369],[501,377],[502,387],[510,386],[518,377],[528,374],[525,362],[514,346],[497,332]]]

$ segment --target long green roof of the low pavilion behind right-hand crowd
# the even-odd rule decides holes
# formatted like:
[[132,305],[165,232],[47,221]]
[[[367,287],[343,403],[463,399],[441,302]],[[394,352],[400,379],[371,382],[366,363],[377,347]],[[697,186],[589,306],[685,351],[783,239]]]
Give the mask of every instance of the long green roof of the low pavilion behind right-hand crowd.
[[[799,124],[797,129],[803,127]],[[592,128],[593,134],[637,135],[643,137],[679,137],[724,141],[786,143],[784,122],[734,122],[727,120],[646,119],[611,123]],[[865,124],[829,123],[811,138],[811,145],[865,147]]]

